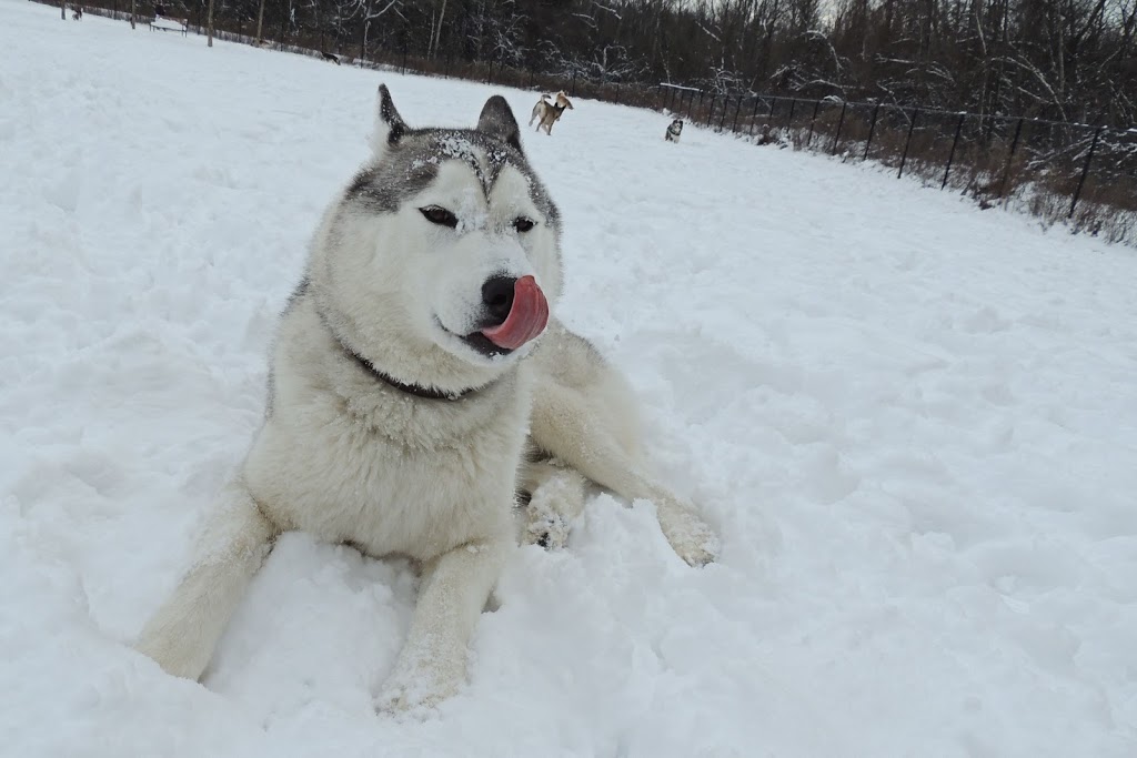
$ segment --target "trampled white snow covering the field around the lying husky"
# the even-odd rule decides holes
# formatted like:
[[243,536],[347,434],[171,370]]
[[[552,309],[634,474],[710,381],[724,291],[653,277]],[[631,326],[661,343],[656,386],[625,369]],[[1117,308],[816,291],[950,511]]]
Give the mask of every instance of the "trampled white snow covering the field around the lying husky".
[[[289,535],[205,686],[164,675],[128,644],[258,424],[381,77],[0,19],[0,753],[1137,755],[1134,252],[588,101],[525,136],[561,313],[721,563],[599,495],[509,564],[466,691],[396,720],[407,567]],[[497,91],[382,78],[412,123]]]

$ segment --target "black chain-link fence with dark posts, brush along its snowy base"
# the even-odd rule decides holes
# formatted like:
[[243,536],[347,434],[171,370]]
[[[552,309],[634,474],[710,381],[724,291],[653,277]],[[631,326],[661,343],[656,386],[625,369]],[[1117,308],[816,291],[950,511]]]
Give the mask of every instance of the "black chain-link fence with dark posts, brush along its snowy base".
[[874,160],[1046,224],[1137,244],[1137,128],[661,84],[656,107],[758,144]]

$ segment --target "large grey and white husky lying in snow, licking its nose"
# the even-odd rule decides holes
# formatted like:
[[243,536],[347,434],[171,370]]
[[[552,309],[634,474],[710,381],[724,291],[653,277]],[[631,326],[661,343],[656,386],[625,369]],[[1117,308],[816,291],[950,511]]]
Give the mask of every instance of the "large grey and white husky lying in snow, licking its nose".
[[550,313],[561,216],[505,99],[473,130],[410,128],[380,86],[372,142],[281,316],[264,424],[138,649],[199,678],[276,535],[304,530],[420,566],[376,699],[401,710],[460,686],[518,531],[563,543],[589,482],[654,501],[691,565],[716,541],[647,474],[624,380]]

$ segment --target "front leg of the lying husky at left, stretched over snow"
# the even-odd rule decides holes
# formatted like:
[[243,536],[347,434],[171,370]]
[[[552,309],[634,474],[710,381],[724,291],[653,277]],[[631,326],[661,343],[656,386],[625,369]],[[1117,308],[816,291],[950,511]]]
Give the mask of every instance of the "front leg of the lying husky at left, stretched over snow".
[[193,567],[147,623],[136,649],[174,676],[200,677],[276,533],[246,486],[230,483]]

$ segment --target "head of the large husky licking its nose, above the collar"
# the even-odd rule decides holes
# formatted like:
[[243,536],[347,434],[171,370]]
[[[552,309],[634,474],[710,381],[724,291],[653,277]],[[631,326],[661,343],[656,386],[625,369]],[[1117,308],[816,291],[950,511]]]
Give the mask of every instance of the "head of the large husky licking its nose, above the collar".
[[561,223],[500,95],[473,130],[410,128],[379,88],[374,156],[324,218],[324,320],[391,377],[455,392],[525,355],[561,293]]

